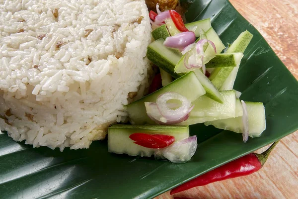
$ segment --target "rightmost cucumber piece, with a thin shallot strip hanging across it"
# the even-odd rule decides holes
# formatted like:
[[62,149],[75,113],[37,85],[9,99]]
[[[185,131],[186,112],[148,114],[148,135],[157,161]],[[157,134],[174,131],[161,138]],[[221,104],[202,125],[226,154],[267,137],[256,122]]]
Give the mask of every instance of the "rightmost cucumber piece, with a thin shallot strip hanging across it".
[[[260,137],[266,129],[265,108],[261,102],[245,102],[248,113],[248,131],[250,137]],[[216,121],[205,122],[205,125],[213,125],[217,128],[242,132],[242,116]]]

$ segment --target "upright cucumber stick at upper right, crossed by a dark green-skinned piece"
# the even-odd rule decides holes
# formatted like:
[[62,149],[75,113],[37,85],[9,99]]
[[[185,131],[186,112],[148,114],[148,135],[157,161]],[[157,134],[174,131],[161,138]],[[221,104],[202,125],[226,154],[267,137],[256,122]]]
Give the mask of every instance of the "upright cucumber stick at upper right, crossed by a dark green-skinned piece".
[[[231,44],[231,46],[227,49],[226,53],[244,53],[252,37],[253,35],[247,30],[242,32],[237,37],[237,39]],[[231,73],[224,81],[222,87],[220,88],[221,91],[233,89],[236,76],[239,70],[239,66],[240,66],[240,62],[238,62],[237,66],[232,69]]]

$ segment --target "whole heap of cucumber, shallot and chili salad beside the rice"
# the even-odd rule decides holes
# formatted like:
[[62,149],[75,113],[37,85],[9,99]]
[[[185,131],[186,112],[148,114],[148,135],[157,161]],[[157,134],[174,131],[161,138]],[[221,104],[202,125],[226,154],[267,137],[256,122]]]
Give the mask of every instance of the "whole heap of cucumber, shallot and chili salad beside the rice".
[[263,103],[239,100],[233,90],[253,35],[242,32],[224,50],[209,18],[184,24],[175,10],[156,10],[149,13],[155,41],[147,51],[160,69],[154,92],[125,107],[134,125],[109,128],[109,151],[187,162],[197,147],[188,126],[197,123],[242,133],[244,142],[259,137],[266,128]]

